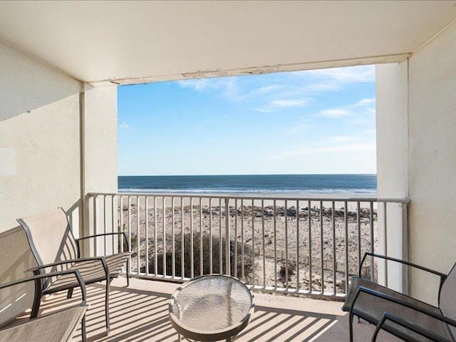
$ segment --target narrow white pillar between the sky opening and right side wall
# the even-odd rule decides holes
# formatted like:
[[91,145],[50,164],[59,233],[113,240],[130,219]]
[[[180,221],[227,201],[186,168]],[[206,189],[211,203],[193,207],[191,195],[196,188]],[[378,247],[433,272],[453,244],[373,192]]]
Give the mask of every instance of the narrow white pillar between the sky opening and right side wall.
[[[378,197],[408,197],[408,61],[376,66],[377,187]],[[403,258],[403,211],[400,204],[388,204],[387,252]],[[384,209],[378,205],[378,247],[385,252]],[[379,261],[379,274],[384,264]],[[383,281],[380,277],[379,281]],[[388,264],[388,286],[401,290],[402,269]]]

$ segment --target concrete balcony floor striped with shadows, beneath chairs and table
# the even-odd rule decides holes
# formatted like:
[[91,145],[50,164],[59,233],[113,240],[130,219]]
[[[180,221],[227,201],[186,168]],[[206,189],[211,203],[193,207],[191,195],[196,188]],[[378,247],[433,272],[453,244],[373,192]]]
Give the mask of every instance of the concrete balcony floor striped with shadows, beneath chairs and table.
[[[177,341],[177,333],[168,318],[168,300],[179,284],[162,281],[115,279],[110,286],[109,336],[105,334],[104,284],[87,286],[87,337],[95,341]],[[62,306],[76,304],[81,292],[75,290],[73,299],[66,293],[43,299],[41,313],[47,314]],[[279,294],[254,292],[255,314],[239,335],[238,342],[250,341],[348,341],[348,314],[341,311],[341,301],[308,299]],[[27,314],[27,313],[26,313]],[[21,316],[13,323],[27,319]],[[356,321],[356,320],[355,320]],[[371,341],[373,326],[361,321],[354,324],[355,341]],[[73,341],[81,341],[80,328]],[[187,341],[182,338],[182,341]],[[388,333],[378,341],[398,341]]]

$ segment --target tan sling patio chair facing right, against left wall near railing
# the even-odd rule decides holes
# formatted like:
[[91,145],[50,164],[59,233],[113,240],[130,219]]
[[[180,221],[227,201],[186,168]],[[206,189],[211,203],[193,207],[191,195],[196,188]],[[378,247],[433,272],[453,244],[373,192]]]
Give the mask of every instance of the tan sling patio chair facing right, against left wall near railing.
[[[21,218],[18,219],[18,222],[26,232],[28,244],[30,244],[33,256],[38,263],[38,266],[27,269],[26,271],[33,271],[33,274],[43,274],[56,271],[59,268],[78,269],[86,284],[106,281],[105,321],[106,331],[109,333],[109,284],[114,278],[120,275],[125,261],[127,262],[127,286],[130,284],[130,252],[105,257],[83,258],[81,257],[80,242],[85,239],[95,239],[95,237],[122,235],[125,239],[127,249],[130,251],[125,232],[96,234],[90,237],[75,239],[71,232],[66,213],[62,208]],[[68,290],[68,298],[71,298],[73,288],[78,286],[78,283],[66,274],[54,277],[48,281],[41,280],[41,284],[36,283],[31,318],[35,318],[38,315],[42,296]]]

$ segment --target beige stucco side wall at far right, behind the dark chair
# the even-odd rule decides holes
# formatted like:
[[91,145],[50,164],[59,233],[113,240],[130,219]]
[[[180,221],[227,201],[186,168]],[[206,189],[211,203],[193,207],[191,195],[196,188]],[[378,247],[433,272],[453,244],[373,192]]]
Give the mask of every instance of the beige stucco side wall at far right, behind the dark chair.
[[[456,261],[456,25],[409,63],[410,257],[447,272]],[[414,294],[435,299],[436,284],[412,274]]]

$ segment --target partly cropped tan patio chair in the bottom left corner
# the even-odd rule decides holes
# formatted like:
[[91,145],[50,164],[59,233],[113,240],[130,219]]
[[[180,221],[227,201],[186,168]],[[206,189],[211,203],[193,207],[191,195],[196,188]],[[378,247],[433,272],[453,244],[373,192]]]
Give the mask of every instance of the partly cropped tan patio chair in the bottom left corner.
[[81,323],[81,336],[82,341],[86,342],[86,286],[79,271],[60,271],[49,274],[40,274],[38,276],[31,276],[16,281],[11,281],[8,284],[0,285],[1,289],[6,289],[9,286],[16,286],[26,281],[38,281],[41,283],[43,278],[49,276],[72,276],[76,277],[82,292],[82,301],[78,306],[73,306],[68,309],[57,311],[53,314],[34,318],[25,323],[21,323],[11,328],[4,328],[0,330],[0,341],[8,342],[28,342],[28,341],[71,341],[73,335]]

